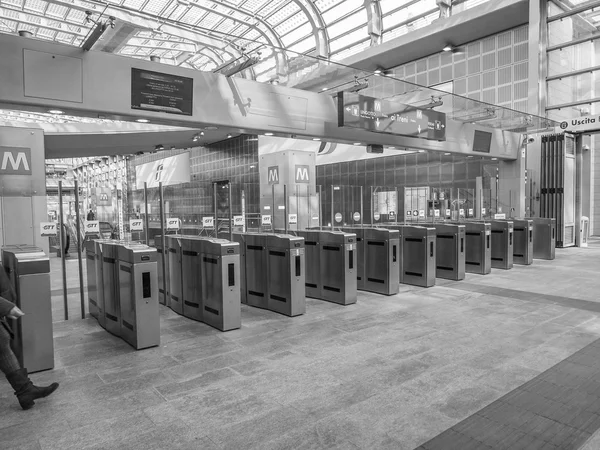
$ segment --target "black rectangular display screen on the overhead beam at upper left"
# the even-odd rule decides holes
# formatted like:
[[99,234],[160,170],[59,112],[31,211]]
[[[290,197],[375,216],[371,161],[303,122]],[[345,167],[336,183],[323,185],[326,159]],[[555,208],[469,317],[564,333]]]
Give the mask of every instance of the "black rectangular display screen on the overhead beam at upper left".
[[166,73],[131,69],[131,107],[192,115],[194,80]]

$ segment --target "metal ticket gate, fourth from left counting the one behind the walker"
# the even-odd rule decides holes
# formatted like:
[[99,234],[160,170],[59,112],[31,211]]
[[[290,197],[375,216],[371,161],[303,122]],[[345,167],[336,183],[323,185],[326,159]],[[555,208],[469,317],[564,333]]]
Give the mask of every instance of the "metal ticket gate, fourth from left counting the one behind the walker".
[[304,238],[234,233],[242,260],[242,302],[286,316],[306,312]]

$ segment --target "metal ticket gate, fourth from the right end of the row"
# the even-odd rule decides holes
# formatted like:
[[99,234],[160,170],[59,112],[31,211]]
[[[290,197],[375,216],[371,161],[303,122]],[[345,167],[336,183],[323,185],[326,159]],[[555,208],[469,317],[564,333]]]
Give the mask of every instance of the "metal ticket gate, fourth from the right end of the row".
[[487,275],[492,271],[492,224],[462,222],[465,226],[465,271]]

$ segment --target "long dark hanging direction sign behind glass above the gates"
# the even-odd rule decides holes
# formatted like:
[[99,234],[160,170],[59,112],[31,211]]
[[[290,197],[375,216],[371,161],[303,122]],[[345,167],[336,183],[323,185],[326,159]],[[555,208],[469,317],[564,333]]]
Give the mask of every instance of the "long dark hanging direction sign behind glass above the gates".
[[350,92],[338,92],[338,126],[446,140],[446,114]]

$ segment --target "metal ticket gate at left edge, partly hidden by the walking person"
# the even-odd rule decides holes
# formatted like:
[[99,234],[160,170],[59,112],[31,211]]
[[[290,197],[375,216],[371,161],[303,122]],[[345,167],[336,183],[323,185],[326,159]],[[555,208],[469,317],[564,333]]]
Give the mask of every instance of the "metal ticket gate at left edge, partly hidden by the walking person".
[[7,245],[2,247],[2,266],[15,289],[15,304],[25,313],[18,320],[7,319],[15,334],[13,352],[29,372],[52,369],[50,260],[32,245]]

